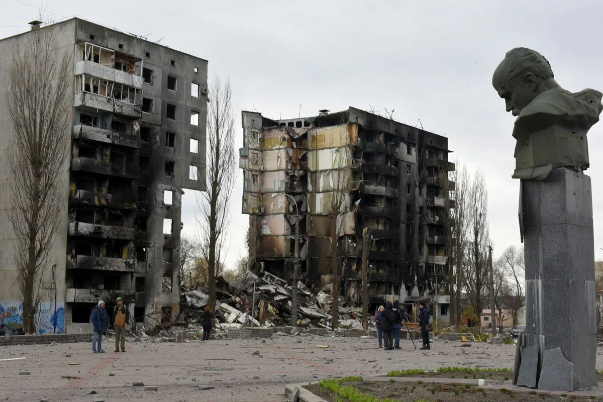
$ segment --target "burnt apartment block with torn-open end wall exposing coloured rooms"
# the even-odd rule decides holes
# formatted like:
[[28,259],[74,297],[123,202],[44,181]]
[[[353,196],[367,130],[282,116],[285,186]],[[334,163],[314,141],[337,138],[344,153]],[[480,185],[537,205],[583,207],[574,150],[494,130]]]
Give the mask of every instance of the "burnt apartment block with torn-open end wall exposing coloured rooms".
[[[298,210],[300,280],[315,292],[331,287],[339,206],[339,289],[348,303],[361,303],[365,227],[371,304],[433,298],[435,283],[448,282],[444,216],[454,183],[444,177],[455,165],[446,137],[353,107],[286,120],[244,111],[242,125],[242,212],[250,215],[254,271],[292,280]],[[443,287],[438,315],[446,320]]]

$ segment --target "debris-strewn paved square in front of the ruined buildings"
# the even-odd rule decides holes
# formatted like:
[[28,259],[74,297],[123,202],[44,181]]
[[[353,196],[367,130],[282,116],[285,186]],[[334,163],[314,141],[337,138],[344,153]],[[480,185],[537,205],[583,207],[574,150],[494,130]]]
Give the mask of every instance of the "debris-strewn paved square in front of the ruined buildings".
[[[0,362],[0,401],[283,402],[287,383],[385,375],[408,368],[511,367],[515,353],[513,345],[462,348],[459,342],[434,342],[431,351],[423,352],[415,350],[410,341],[402,341],[401,350],[384,351],[374,339],[330,336],[222,339],[205,344],[129,342],[126,353],[113,353],[111,340],[103,346],[107,353],[93,354],[90,342],[0,347],[0,359],[25,357]],[[603,360],[597,368],[603,368]],[[19,375],[21,371],[31,374]],[[61,375],[78,378],[69,380]],[[144,391],[133,382],[158,389]]]

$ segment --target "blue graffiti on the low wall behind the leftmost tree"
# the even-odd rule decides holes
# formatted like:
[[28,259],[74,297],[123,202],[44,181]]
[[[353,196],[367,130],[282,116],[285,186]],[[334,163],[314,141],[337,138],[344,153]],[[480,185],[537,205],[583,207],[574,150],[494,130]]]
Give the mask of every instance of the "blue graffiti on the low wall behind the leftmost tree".
[[[42,301],[36,314],[36,332],[63,333],[65,331],[65,303]],[[21,301],[0,300],[0,324],[7,328],[23,327],[23,303]]]

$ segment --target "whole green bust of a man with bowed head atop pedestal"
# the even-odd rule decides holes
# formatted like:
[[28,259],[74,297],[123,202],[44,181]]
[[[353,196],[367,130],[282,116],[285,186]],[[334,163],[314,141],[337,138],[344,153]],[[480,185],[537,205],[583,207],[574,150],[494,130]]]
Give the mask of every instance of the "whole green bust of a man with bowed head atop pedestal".
[[526,48],[507,52],[492,85],[517,116],[513,178],[544,180],[554,168],[582,172],[589,167],[586,134],[603,110],[601,92],[564,90],[549,61]]

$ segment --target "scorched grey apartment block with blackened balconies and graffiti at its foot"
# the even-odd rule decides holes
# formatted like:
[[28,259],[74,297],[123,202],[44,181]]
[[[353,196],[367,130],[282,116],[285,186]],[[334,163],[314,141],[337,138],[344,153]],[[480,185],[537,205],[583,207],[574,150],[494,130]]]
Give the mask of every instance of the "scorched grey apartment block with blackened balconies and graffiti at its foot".
[[[182,195],[204,190],[207,61],[79,18],[31,25],[32,31],[0,40],[0,87],[8,83],[13,46],[23,47],[32,34],[52,30],[57,52],[73,60],[65,216],[53,268],[42,279],[43,303],[57,316],[63,312],[59,330],[67,333],[90,330],[96,303],[106,301],[110,312],[116,297],[141,324],[173,322]],[[8,145],[7,110],[0,110],[0,124]],[[8,193],[8,169],[1,175],[0,192]],[[10,209],[10,197],[2,199],[2,209]],[[6,214],[0,216],[10,227]],[[9,232],[0,254],[2,304],[21,300],[12,286]]]

